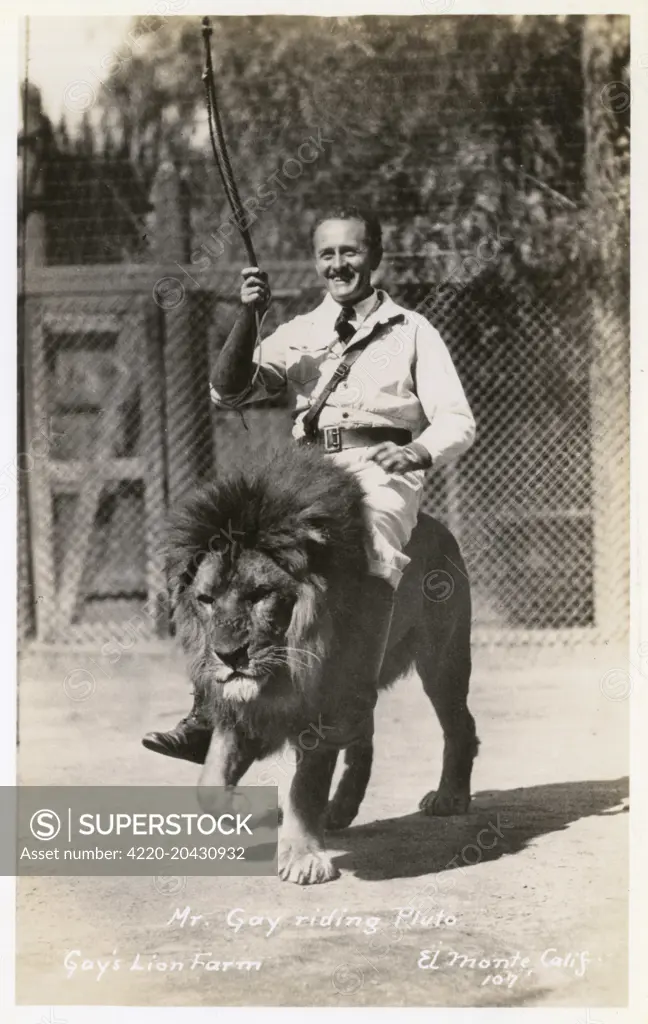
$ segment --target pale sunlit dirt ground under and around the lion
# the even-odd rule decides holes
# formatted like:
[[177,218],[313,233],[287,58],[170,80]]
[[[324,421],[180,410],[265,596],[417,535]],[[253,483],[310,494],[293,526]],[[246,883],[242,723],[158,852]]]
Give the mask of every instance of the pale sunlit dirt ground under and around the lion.
[[[447,819],[416,813],[438,781],[441,735],[418,679],[402,680],[379,702],[370,790],[356,823],[331,838],[342,877],[326,886],[18,880],[18,1002],[623,1006],[628,701],[606,697],[602,681],[624,665],[622,651],[476,651],[475,796],[468,815]],[[20,781],[190,785],[196,766],[139,742],[174,724],[188,701],[172,647],[135,650],[110,667],[92,654],[31,654]],[[275,774],[288,773],[273,761]],[[254,777],[255,769],[246,781]],[[407,906],[422,918],[397,928]],[[185,907],[192,925],[171,921]],[[230,911],[232,924],[247,918],[239,931]],[[298,924],[300,915],[308,920]],[[270,926],[251,918],[279,921],[267,936]],[[197,954],[203,964],[261,966],[206,970],[191,967]],[[494,957],[509,958],[508,970]],[[82,959],[93,964],[81,970]],[[111,965],[101,978],[99,959]]]

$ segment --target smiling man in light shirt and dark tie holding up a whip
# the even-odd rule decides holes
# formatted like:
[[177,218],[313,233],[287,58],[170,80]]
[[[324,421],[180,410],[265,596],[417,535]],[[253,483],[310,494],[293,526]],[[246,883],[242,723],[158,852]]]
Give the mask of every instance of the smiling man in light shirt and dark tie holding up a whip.
[[[475,422],[436,329],[372,285],[383,256],[379,221],[356,207],[340,207],[316,221],[312,245],[323,301],[262,342],[256,314],[270,302],[267,275],[258,267],[243,270],[241,308],[211,395],[231,408],[287,392],[295,440],[321,445],[357,476],[366,498],[372,572],[369,629],[358,642],[368,677],[377,679],[426,470],[465,452]],[[372,728],[370,716],[365,732]],[[209,732],[195,706],[175,729],[149,733],[143,742],[202,762]]]

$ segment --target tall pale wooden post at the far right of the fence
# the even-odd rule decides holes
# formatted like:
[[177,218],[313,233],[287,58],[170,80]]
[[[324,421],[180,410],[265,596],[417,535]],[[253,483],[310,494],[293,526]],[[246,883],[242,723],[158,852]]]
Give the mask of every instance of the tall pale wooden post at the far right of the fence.
[[622,83],[614,81],[612,39],[608,16],[584,19],[585,179],[592,241],[594,599],[603,639],[623,641],[630,617],[629,230],[621,201],[627,172],[616,141],[630,105],[630,87],[623,93]]

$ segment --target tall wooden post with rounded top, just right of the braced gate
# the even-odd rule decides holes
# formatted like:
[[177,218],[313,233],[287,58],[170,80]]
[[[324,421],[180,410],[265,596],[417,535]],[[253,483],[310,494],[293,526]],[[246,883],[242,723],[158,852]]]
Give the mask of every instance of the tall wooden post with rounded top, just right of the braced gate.
[[[160,165],[152,189],[152,255],[165,266],[188,262],[186,195],[170,162]],[[181,271],[160,282],[156,301],[164,317],[167,474],[171,506],[212,467],[207,317],[197,315],[201,293]],[[204,301],[204,300],[203,300]]]

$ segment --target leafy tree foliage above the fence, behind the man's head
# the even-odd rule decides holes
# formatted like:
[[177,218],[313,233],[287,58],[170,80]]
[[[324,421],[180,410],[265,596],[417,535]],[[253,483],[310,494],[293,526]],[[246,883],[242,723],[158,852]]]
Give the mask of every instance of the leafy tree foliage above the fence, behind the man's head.
[[[458,252],[499,231],[518,264],[556,269],[576,259],[588,215],[584,23],[214,17],[219,103],[242,194],[271,179],[278,186],[253,227],[259,251],[303,254],[315,212],[344,196],[378,211],[388,251],[415,257],[417,271],[445,273]],[[623,60],[628,22],[605,23],[610,59]],[[95,147],[130,163],[144,187],[163,159],[185,168],[200,245],[228,216],[209,148],[200,20],[135,18],[117,57]],[[291,177],[286,161],[309,152],[300,146],[311,137],[326,141]]]

